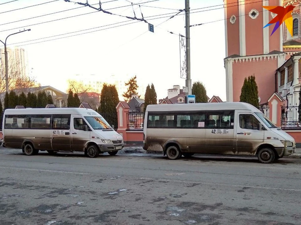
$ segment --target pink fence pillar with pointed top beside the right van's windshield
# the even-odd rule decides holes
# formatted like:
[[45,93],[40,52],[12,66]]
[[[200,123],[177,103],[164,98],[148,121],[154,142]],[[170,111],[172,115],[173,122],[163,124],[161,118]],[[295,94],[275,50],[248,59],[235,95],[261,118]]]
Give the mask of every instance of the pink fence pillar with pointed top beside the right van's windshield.
[[281,127],[281,107],[283,102],[284,99],[276,92],[273,93],[268,100],[268,105],[270,108],[269,119],[275,123],[277,127]]

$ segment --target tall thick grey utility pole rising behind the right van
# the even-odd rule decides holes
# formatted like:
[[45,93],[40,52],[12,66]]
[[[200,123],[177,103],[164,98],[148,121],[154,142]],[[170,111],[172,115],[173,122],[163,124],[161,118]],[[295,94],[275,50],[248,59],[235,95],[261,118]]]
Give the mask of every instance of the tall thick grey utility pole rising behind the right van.
[[189,21],[189,0],[185,0],[185,19],[186,19],[186,87],[188,95],[192,94],[190,79],[190,21]]

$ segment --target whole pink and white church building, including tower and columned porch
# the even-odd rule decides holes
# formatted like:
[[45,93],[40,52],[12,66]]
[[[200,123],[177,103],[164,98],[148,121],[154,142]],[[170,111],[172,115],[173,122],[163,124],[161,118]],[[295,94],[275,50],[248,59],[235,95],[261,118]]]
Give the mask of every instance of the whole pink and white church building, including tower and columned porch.
[[[293,36],[283,23],[263,28],[276,14],[262,6],[294,5]],[[244,79],[254,75],[262,111],[301,143],[301,1],[224,0],[227,102],[240,100]],[[300,134],[299,134],[300,133]]]

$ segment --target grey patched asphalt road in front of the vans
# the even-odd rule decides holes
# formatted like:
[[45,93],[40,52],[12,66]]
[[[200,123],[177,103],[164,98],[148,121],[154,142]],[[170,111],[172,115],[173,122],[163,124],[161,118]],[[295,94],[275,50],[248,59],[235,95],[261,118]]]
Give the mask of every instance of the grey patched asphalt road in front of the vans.
[[0,224],[301,224],[301,159],[0,148]]

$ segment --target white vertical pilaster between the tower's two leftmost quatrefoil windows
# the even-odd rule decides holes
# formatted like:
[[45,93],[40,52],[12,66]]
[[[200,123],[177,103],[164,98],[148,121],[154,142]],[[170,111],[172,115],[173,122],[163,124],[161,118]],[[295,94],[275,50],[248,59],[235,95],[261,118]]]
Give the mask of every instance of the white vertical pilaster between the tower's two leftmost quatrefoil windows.
[[246,56],[246,12],[245,0],[238,0],[239,2],[239,42],[240,55]]

